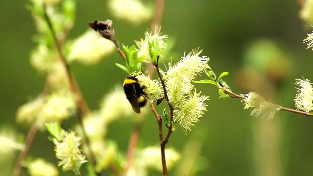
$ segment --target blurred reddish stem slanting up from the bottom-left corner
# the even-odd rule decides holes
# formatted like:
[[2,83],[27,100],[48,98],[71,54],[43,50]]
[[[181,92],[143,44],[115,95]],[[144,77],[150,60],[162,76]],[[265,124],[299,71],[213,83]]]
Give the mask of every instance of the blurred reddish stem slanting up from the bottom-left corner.
[[[50,92],[50,84],[49,84],[48,76],[46,76],[46,82],[44,84],[44,91],[43,91],[44,100],[49,95],[49,92]],[[24,162],[27,156],[27,153],[29,151],[30,146],[33,143],[33,140],[35,138],[37,131],[38,131],[38,127],[37,127],[36,122],[34,122],[27,133],[27,136],[25,139],[25,149],[21,151],[21,153],[18,156],[16,166],[13,170],[13,176],[18,176],[20,174],[21,168],[22,168],[22,162]]]

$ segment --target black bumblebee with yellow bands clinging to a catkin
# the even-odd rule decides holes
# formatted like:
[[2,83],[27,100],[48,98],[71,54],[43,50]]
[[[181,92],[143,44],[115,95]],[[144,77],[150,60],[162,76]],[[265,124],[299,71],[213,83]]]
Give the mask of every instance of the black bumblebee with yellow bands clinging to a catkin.
[[131,107],[136,113],[140,113],[140,108],[147,103],[147,94],[143,91],[146,86],[140,86],[135,76],[129,76],[123,83],[124,92]]

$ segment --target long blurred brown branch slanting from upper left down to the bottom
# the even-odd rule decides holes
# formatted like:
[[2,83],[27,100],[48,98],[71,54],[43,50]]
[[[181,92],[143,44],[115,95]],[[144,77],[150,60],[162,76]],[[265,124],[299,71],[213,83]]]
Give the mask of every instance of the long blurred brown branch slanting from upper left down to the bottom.
[[[44,10],[44,20],[47,22],[47,24],[49,26],[49,29],[51,31],[52,37],[54,39],[55,47],[56,47],[57,52],[59,54],[59,58],[60,58],[61,63],[63,64],[63,66],[65,68],[66,76],[67,76],[67,79],[69,81],[70,88],[71,88],[71,90],[73,91],[74,95],[77,98],[77,105],[79,106],[79,109],[77,110],[77,114],[76,114],[77,115],[77,119],[78,119],[78,122],[80,123],[81,129],[83,131],[83,135],[84,135],[84,139],[85,139],[85,142],[86,142],[86,146],[87,146],[87,148],[88,148],[88,150],[90,152],[89,156],[90,156],[91,163],[93,163],[93,165],[96,166],[95,155],[92,153],[92,150],[91,150],[91,147],[90,147],[90,142],[89,142],[89,139],[88,139],[88,137],[86,135],[85,128],[84,128],[84,125],[83,125],[83,122],[82,122],[83,114],[86,116],[90,112],[89,107],[88,107],[86,101],[84,100],[83,96],[81,95],[80,89],[79,89],[79,87],[78,87],[78,85],[76,83],[74,75],[72,75],[71,72],[70,72],[69,65],[67,64],[65,56],[64,56],[64,54],[62,52],[61,42],[57,39],[57,36],[56,36],[55,30],[53,28],[53,25],[51,23],[49,15],[47,14],[46,5],[45,4],[43,4],[43,10]],[[83,114],[81,112],[83,112]],[[97,175],[100,175],[100,173],[97,173]]]

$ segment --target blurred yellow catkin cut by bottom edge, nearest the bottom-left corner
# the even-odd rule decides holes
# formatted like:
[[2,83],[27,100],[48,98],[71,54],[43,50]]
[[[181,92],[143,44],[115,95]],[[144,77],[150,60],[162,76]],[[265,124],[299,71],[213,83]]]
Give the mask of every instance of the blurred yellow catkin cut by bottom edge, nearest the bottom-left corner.
[[58,176],[58,169],[42,158],[37,158],[28,165],[28,173],[31,176]]

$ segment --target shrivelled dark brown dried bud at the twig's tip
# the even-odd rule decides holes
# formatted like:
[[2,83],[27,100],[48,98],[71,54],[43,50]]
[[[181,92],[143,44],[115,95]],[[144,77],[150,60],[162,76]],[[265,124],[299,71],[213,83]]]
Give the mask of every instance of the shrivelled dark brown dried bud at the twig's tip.
[[112,28],[113,22],[109,19],[106,21],[94,21],[88,23],[90,28],[98,31],[99,34],[105,39],[114,41],[114,29]]

